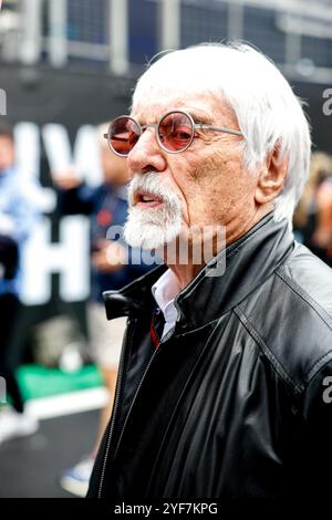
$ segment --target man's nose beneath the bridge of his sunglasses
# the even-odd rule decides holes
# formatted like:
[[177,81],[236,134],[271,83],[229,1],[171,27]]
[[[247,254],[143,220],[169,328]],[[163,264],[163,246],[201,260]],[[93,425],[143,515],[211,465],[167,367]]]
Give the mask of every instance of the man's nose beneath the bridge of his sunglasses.
[[163,171],[167,162],[156,139],[155,128],[146,128],[139,136],[134,148],[127,157],[131,175],[145,171]]

